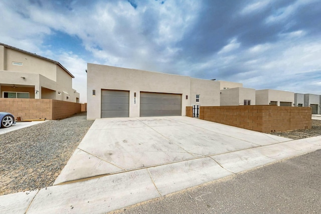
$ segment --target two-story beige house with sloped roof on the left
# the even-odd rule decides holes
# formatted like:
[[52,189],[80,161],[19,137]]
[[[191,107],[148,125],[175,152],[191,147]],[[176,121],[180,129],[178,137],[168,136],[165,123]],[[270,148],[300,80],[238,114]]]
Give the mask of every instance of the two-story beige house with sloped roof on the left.
[[0,43],[0,98],[79,103],[74,76],[59,62]]

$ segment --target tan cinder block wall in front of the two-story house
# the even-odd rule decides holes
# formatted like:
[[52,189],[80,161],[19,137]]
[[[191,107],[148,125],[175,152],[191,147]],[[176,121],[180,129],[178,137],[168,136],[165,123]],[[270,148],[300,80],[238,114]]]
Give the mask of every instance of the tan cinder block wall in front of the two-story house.
[[0,98],[0,111],[10,112],[23,120],[56,120],[81,112],[81,104],[52,99]]

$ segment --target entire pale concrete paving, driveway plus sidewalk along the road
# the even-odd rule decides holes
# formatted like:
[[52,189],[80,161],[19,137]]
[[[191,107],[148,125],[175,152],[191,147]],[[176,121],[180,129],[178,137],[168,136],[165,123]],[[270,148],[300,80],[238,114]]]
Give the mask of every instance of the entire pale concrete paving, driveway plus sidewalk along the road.
[[0,196],[0,213],[105,213],[317,149],[189,117],[97,119],[56,185]]

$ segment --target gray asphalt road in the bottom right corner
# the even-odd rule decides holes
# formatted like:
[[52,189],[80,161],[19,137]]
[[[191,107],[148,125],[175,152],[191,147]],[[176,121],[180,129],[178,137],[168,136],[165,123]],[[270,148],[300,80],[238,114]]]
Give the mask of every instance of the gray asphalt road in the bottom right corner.
[[112,213],[321,213],[321,150]]

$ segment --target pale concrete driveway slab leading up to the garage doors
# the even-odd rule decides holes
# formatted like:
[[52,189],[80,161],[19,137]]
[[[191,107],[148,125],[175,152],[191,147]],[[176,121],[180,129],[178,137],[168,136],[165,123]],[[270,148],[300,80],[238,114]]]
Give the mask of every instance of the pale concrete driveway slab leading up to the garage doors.
[[55,184],[289,140],[190,117],[96,119]]

